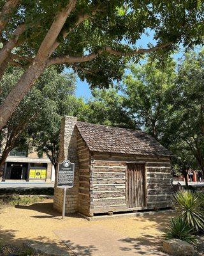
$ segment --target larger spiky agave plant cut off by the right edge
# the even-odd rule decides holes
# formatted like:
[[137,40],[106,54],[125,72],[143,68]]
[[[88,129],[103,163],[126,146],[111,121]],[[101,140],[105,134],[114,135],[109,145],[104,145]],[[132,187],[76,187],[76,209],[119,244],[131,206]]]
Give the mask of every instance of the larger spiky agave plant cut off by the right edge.
[[189,190],[181,190],[174,196],[180,216],[196,231],[204,231],[204,212],[201,206],[200,196]]

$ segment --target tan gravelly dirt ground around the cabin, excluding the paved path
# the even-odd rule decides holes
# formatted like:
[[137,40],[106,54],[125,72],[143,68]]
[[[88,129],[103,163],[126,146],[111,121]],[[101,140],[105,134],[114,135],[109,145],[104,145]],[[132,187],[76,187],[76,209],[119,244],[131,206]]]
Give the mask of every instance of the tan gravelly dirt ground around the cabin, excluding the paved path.
[[[55,235],[54,230],[71,227],[94,227],[100,225],[114,230],[127,239],[151,248],[159,246],[159,238],[172,213],[156,213],[148,216],[129,218],[111,218],[87,221],[80,216],[69,216],[61,220],[61,215],[52,209],[52,200],[33,205],[17,205],[0,209],[0,243],[21,245],[26,240],[55,243],[64,247],[64,243]],[[129,240],[130,241],[130,240]]]

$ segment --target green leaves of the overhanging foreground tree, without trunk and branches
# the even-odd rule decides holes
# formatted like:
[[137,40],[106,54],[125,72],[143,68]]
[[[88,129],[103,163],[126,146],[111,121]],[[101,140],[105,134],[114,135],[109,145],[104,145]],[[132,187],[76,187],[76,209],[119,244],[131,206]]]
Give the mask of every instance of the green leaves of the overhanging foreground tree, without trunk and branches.
[[[36,56],[43,38],[47,35],[56,13],[68,1],[65,0],[22,0],[13,10],[12,19],[4,29],[3,39],[13,35],[18,24],[25,23],[26,31],[21,35],[22,44],[16,49],[20,56]],[[0,8],[4,1],[0,2]],[[76,26],[79,15],[100,11]],[[152,53],[152,58],[159,58],[163,63],[168,54],[178,48],[180,42],[184,47],[203,44],[203,1],[77,1],[76,8],[64,23],[58,41],[61,43],[54,56],[82,56],[84,52],[96,52],[106,45],[115,50],[131,52],[144,34],[152,33],[158,44],[171,43],[170,47]],[[67,40],[62,39],[63,31],[69,31]],[[134,58],[137,62],[138,56]],[[120,80],[125,63],[129,58],[102,54],[85,63],[71,63],[81,79],[89,84],[107,87],[113,81]],[[24,61],[20,60],[20,63]],[[62,68],[62,67],[61,67]]]

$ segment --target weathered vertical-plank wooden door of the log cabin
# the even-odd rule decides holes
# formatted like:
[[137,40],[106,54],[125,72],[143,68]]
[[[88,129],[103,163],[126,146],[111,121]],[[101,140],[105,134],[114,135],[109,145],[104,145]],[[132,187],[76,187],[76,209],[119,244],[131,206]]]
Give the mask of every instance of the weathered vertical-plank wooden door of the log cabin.
[[145,207],[145,164],[129,163],[127,167],[127,205],[129,208]]

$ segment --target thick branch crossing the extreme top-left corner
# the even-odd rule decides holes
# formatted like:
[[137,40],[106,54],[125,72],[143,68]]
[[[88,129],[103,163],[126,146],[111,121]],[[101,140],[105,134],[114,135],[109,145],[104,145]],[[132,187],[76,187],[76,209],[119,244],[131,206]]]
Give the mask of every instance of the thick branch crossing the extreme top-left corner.
[[6,24],[8,23],[8,16],[13,11],[13,8],[15,8],[18,5],[18,3],[20,3],[20,0],[8,0],[4,4],[0,13],[0,34],[2,33]]

